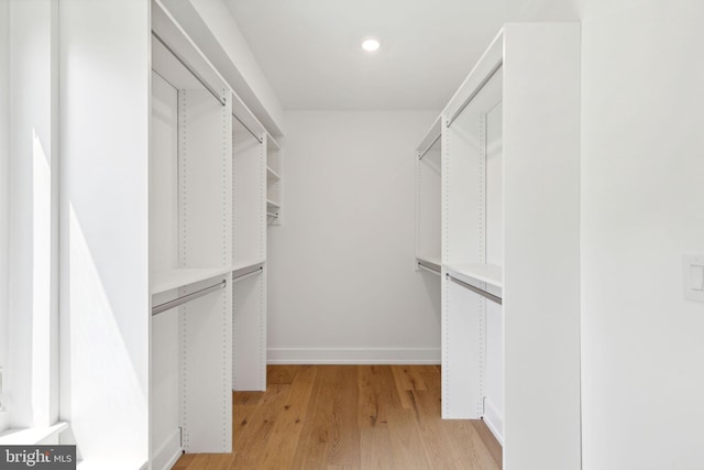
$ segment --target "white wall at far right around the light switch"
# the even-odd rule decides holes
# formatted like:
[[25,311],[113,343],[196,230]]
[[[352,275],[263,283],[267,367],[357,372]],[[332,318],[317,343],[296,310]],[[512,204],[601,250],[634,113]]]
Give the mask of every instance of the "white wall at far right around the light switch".
[[704,468],[704,3],[531,3],[582,21],[583,468]]

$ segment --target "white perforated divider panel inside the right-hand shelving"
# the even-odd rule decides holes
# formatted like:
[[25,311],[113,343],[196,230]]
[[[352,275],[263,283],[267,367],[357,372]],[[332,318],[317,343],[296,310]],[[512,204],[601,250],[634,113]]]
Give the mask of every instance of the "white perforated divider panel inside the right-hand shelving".
[[[463,112],[442,132],[442,261],[485,261],[482,114]],[[485,300],[442,272],[442,417],[479,418],[484,395]]]

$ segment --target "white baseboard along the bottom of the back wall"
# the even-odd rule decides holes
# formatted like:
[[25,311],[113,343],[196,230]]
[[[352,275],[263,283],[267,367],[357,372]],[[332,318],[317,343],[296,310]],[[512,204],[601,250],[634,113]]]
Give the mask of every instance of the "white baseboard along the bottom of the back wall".
[[271,348],[270,364],[439,364],[440,348]]

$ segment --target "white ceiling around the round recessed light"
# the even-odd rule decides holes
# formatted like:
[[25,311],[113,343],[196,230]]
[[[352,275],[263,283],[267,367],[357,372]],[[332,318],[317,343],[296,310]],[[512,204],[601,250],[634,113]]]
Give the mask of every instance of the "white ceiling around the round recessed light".
[[502,0],[226,3],[286,110],[440,110],[505,22]]

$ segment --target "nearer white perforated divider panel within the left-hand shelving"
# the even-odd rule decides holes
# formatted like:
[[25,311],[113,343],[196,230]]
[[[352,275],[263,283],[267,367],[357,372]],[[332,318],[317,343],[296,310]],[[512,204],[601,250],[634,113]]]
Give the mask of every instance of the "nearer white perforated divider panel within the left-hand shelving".
[[[178,92],[179,264],[232,262],[232,100],[207,90]],[[204,288],[195,284],[180,294]],[[210,282],[212,284],[212,281]],[[232,284],[180,307],[183,446],[189,452],[232,449]]]

